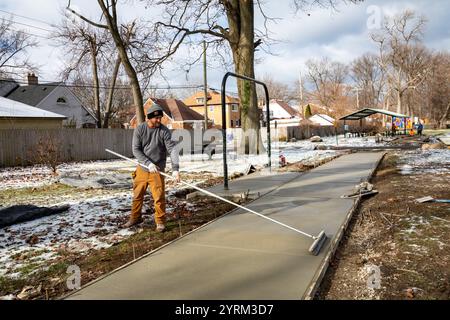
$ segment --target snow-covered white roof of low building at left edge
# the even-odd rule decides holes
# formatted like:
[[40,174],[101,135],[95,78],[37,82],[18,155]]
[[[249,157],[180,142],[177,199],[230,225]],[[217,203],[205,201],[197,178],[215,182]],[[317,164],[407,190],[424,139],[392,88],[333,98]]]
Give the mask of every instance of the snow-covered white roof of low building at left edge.
[[62,114],[42,110],[22,102],[0,97],[0,118],[66,119]]

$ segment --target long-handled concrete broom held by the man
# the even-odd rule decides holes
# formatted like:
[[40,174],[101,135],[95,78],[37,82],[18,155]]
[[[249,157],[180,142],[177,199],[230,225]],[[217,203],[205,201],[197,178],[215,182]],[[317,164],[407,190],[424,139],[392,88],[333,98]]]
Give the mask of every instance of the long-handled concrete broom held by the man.
[[[111,153],[111,154],[113,154],[113,155],[115,155],[115,156],[117,156],[117,157],[119,157],[119,158],[122,158],[122,159],[124,159],[124,160],[133,162],[134,164],[139,165],[139,166],[142,166],[142,167],[145,168],[145,166],[144,166],[143,164],[140,164],[140,163],[139,163],[138,161],[136,161],[136,160],[127,158],[127,157],[125,157],[125,156],[123,156],[123,155],[121,155],[121,154],[119,154],[119,153],[117,153],[117,152],[114,152],[114,151],[112,151],[112,150],[109,150],[109,149],[105,149],[105,151],[106,151],[106,152],[109,152],[109,153]],[[161,174],[162,176],[164,176],[164,177],[166,177],[166,178],[169,178],[169,179],[171,179],[171,180],[175,180],[171,175],[168,175],[168,174],[166,174],[166,173],[164,173],[164,172],[161,172],[161,171],[158,171],[158,172],[159,172],[159,174]],[[240,208],[240,209],[243,209],[243,210],[245,210],[245,211],[248,211],[248,212],[250,212],[250,213],[253,213],[253,214],[255,214],[255,215],[257,215],[257,216],[259,216],[259,217],[261,217],[261,218],[263,218],[263,219],[269,220],[269,221],[271,221],[271,222],[273,222],[273,223],[276,223],[276,224],[278,224],[278,225],[280,225],[280,226],[283,226],[283,227],[285,227],[285,228],[287,228],[287,229],[290,229],[290,230],[292,230],[292,231],[295,231],[295,232],[297,232],[297,233],[300,233],[300,234],[303,235],[303,236],[306,236],[306,237],[309,237],[309,238],[313,239],[314,242],[312,243],[311,247],[309,248],[309,252],[312,253],[312,254],[315,255],[315,256],[319,254],[320,249],[322,248],[322,246],[324,245],[324,243],[325,243],[326,240],[327,240],[327,236],[325,235],[325,231],[324,231],[324,230],[322,230],[317,236],[313,236],[313,235],[311,235],[311,234],[309,234],[309,233],[306,233],[306,232],[303,232],[303,231],[298,230],[298,229],[296,229],[296,228],[293,228],[293,227],[291,227],[291,226],[288,226],[287,224],[284,224],[284,223],[282,223],[282,222],[280,222],[280,221],[277,221],[277,220],[275,220],[275,219],[266,217],[265,215],[263,215],[263,214],[261,214],[261,213],[259,213],[259,212],[256,212],[256,211],[254,211],[254,210],[252,210],[252,209],[249,209],[249,208],[246,208],[246,207],[244,207],[244,206],[241,206],[240,204],[237,204],[237,203],[235,203],[235,202],[233,202],[233,201],[230,201],[230,200],[227,200],[227,199],[225,199],[225,198],[222,198],[221,196],[218,196],[218,195],[216,195],[216,194],[214,194],[214,193],[212,193],[212,192],[209,192],[209,191],[207,191],[207,190],[205,190],[205,189],[202,189],[202,188],[199,188],[199,187],[197,187],[197,186],[194,186],[194,185],[192,185],[192,184],[190,184],[190,183],[187,183],[187,182],[184,182],[184,181],[180,181],[179,183],[182,183],[182,184],[184,184],[184,185],[186,185],[186,186],[188,186],[188,187],[194,188],[194,189],[196,189],[196,190],[198,190],[198,191],[200,191],[200,192],[202,192],[202,193],[204,193],[204,194],[207,194],[207,195],[209,195],[209,196],[211,196],[211,197],[214,197],[214,198],[217,198],[217,199],[219,199],[219,200],[222,200],[222,201],[224,201],[224,202],[226,202],[226,203],[229,203],[229,204],[231,204],[231,205],[233,205],[233,206],[235,206],[235,207],[238,207],[238,208]]]

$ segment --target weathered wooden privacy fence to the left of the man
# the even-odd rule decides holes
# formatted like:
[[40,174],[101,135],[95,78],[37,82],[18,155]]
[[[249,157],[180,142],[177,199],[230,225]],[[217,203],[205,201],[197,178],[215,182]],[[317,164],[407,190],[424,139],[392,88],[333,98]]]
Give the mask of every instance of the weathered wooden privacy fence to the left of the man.
[[37,154],[56,150],[60,161],[106,160],[105,148],[132,156],[133,130],[4,129],[0,130],[0,167],[36,163]]

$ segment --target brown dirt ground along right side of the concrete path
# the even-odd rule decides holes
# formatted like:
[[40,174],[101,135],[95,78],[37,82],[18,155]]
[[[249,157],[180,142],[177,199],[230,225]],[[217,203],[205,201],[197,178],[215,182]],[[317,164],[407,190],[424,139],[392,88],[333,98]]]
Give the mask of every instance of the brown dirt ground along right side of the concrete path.
[[389,152],[380,164],[372,179],[379,194],[355,212],[317,299],[450,299],[450,205],[415,202],[450,199],[450,173],[402,174],[404,159]]

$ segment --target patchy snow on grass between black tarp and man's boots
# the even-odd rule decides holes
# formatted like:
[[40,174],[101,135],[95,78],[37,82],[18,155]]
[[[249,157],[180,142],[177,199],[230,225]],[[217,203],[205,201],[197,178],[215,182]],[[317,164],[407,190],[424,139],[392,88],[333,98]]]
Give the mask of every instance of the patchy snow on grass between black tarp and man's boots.
[[[106,248],[129,237],[132,231],[120,229],[120,221],[128,212],[131,192],[118,192],[84,200],[63,201],[70,209],[58,215],[16,224],[0,229],[0,276],[21,267],[14,257],[21,254],[42,252],[27,263],[45,264],[57,256],[58,251],[85,252]],[[31,237],[37,243],[27,243]],[[11,276],[11,274],[9,275]]]

